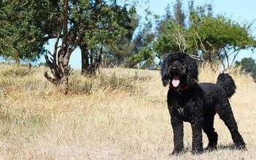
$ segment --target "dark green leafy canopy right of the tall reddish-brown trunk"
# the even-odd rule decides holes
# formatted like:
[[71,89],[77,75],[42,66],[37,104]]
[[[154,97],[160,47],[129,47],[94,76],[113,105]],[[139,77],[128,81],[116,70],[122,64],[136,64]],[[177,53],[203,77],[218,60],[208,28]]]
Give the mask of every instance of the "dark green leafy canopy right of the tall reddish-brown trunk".
[[127,7],[115,1],[71,1],[69,4],[70,33],[82,29],[83,41],[89,48],[96,44],[113,44],[123,36],[132,37],[135,6]]

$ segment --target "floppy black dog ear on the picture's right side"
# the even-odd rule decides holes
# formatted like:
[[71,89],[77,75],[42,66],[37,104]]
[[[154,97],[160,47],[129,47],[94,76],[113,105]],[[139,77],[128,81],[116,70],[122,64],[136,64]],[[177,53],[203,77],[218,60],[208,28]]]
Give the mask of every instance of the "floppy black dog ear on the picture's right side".
[[197,83],[198,81],[198,67],[197,62],[189,55],[186,58],[187,63],[187,84],[192,86],[193,84]]

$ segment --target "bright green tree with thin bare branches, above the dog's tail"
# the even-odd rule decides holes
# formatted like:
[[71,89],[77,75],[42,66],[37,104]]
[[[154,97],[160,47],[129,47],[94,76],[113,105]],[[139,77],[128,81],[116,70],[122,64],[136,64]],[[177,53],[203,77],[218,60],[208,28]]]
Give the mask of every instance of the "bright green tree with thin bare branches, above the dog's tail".
[[188,32],[190,50],[200,52],[201,57],[212,63],[219,60],[224,68],[234,63],[241,49],[256,47],[249,35],[249,26],[240,25],[223,16],[205,15],[198,22],[192,20]]

